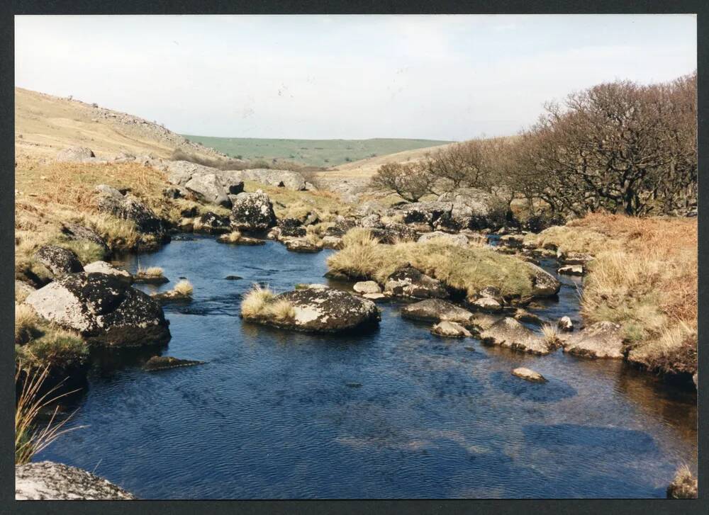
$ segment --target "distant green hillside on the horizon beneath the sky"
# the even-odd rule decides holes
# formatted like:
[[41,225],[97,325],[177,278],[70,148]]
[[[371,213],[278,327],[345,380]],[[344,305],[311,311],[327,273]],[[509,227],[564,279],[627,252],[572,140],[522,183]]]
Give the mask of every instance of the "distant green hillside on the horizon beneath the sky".
[[184,135],[188,140],[212,147],[230,157],[265,159],[272,162],[292,161],[308,166],[337,166],[359,161],[365,157],[383,156],[404,150],[414,150],[449,141],[398,140],[375,138],[372,140],[264,140],[250,137],[210,137]]

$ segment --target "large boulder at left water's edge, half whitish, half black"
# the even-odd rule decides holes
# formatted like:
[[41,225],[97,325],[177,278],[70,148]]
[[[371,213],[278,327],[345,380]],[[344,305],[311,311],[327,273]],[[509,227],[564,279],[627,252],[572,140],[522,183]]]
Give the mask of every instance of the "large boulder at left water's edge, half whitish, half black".
[[164,344],[170,339],[162,307],[105,273],[72,273],[30,293],[38,315],[108,346]]

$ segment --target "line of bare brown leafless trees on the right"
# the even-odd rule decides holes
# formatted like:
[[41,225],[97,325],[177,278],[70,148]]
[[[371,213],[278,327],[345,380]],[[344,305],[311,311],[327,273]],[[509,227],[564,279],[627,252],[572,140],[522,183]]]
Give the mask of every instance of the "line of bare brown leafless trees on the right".
[[[372,186],[410,202],[481,188],[552,216],[686,213],[697,202],[696,72],[665,84],[615,81],[548,103],[519,135],[470,140],[385,164]],[[536,206],[536,207],[535,207]]]

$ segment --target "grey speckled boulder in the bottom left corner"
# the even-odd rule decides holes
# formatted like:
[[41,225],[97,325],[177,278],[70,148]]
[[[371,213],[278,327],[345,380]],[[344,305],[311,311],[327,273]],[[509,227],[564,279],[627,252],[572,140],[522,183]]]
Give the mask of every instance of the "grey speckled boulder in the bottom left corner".
[[86,470],[40,461],[15,466],[15,499],[120,501],[135,496]]

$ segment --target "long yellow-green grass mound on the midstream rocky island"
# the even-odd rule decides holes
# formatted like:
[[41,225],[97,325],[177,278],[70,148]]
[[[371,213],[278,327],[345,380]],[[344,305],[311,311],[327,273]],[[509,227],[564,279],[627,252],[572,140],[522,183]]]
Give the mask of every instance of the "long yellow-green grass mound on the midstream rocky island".
[[328,267],[352,278],[374,279],[381,284],[397,268],[409,264],[467,295],[487,286],[506,296],[532,292],[530,268],[523,261],[486,247],[457,247],[445,239],[384,245],[359,227],[348,231],[342,242],[342,250],[328,258]]

